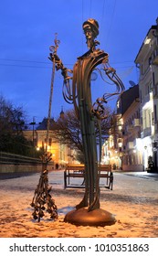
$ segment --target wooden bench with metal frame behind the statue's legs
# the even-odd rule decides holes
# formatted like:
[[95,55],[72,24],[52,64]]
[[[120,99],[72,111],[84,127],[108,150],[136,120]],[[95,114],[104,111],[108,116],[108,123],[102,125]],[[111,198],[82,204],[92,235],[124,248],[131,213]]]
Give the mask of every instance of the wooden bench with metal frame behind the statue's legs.
[[[106,183],[100,185],[100,187],[106,187],[108,189],[113,188],[113,174],[111,171],[111,165],[100,165],[98,168],[100,178],[105,178]],[[82,183],[80,185],[73,184],[71,178],[82,178]],[[85,166],[84,165],[67,165],[64,171],[64,188],[67,187],[85,187]]]

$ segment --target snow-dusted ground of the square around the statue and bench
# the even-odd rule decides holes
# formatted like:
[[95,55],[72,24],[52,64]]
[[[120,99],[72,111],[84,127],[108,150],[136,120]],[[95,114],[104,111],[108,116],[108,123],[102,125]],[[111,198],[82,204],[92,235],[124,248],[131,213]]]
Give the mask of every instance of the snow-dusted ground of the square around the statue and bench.
[[[144,175],[144,174],[142,174]],[[116,223],[83,227],[65,223],[65,214],[83,197],[83,189],[63,188],[63,171],[48,174],[58,219],[49,215],[37,222],[30,203],[40,174],[0,180],[1,238],[157,238],[158,179],[114,173],[113,190],[101,188],[100,208],[115,215]],[[79,182],[81,180],[79,179]]]

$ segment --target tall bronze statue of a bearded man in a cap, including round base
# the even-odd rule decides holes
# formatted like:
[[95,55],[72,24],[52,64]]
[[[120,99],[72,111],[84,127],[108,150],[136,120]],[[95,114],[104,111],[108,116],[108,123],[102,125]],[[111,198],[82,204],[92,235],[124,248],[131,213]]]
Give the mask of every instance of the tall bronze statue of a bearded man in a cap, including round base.
[[[95,122],[104,116],[103,104],[112,96],[120,95],[124,89],[121,80],[108,63],[109,56],[100,48],[95,40],[99,35],[99,24],[95,19],[88,19],[83,23],[83,31],[89,50],[80,56],[73,70],[64,67],[56,52],[50,53],[49,59],[56,63],[56,69],[61,69],[64,78],[63,96],[68,103],[74,104],[74,109],[80,122],[82,143],[85,157],[85,193],[76,209],[68,212],[66,222],[77,225],[105,226],[115,223],[113,215],[100,208],[100,176],[98,172],[97,143],[95,137]],[[99,69],[98,66],[102,65]],[[94,103],[91,102],[90,78],[93,70],[101,76],[108,77],[116,85],[116,92],[105,93]],[[101,142],[101,134],[100,134]],[[101,143],[100,143],[101,147]]]

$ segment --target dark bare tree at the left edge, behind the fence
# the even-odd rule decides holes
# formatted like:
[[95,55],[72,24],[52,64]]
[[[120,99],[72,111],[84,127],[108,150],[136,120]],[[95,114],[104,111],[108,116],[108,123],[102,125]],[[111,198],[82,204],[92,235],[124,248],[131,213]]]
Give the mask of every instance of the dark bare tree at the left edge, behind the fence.
[[30,155],[33,146],[23,135],[24,127],[23,108],[15,107],[0,95],[0,151]]

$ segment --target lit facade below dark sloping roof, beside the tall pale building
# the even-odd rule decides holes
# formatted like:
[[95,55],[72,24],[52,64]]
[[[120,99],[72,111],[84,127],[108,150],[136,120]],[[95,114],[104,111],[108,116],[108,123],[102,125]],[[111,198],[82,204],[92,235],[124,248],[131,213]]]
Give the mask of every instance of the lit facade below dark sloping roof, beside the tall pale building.
[[[138,86],[137,86],[138,88]],[[140,101],[135,95],[130,107],[122,114],[122,170],[143,171]]]

